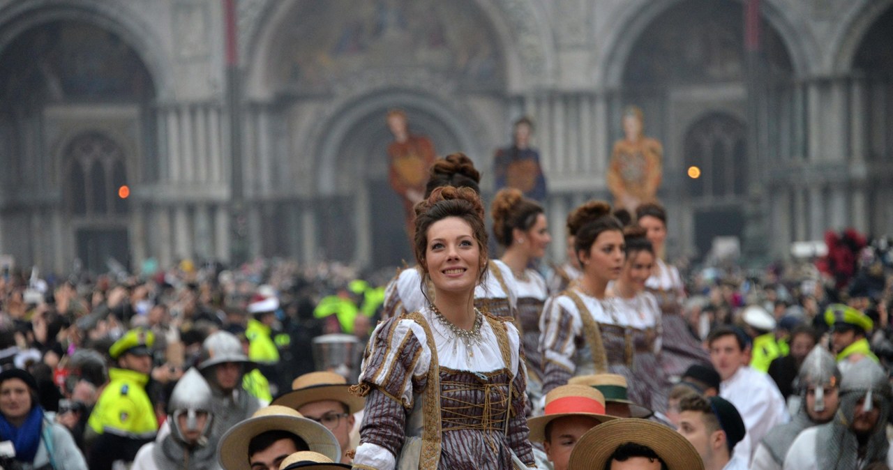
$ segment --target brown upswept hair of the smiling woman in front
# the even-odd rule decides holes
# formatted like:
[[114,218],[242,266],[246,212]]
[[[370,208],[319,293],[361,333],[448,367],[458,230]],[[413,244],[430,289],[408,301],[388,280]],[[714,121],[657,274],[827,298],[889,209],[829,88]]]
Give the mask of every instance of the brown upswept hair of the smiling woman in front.
[[423,269],[422,283],[428,276],[428,261],[425,252],[428,248],[428,229],[438,220],[457,217],[472,227],[474,239],[480,245],[481,267],[478,282],[482,282],[487,272],[487,227],[484,226],[484,205],[471,188],[443,186],[431,192],[428,199],[415,204],[415,260]]

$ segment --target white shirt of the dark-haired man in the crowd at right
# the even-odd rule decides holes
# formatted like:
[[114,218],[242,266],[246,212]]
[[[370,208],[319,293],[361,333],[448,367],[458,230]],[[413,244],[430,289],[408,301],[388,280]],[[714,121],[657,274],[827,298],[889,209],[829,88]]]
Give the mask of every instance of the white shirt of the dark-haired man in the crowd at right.
[[739,367],[735,374],[720,383],[720,396],[735,405],[744,420],[747,434],[735,446],[733,455],[749,465],[755,444],[763,441],[772,427],[790,419],[784,398],[769,375],[749,366]]

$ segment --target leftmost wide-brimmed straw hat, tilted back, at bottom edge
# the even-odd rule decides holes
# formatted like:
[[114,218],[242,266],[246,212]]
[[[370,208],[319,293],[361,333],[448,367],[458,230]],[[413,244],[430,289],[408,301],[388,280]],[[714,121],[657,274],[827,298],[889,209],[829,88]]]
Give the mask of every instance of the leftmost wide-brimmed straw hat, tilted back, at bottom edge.
[[303,439],[314,452],[332,461],[341,458],[338,440],[325,426],[301,416],[295,409],[271,405],[258,409],[254,416],[223,434],[217,447],[221,466],[226,470],[251,470],[248,444],[267,431],[288,431]]

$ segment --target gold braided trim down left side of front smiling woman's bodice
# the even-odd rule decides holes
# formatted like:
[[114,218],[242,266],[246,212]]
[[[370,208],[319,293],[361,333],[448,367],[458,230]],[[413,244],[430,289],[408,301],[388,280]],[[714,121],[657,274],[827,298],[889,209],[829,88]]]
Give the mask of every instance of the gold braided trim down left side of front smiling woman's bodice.
[[406,317],[418,323],[425,330],[426,342],[431,350],[431,364],[428,367],[428,392],[422,402],[422,431],[420,470],[437,470],[440,461],[440,370],[438,348],[434,343],[434,334],[425,317],[419,312],[406,314]]

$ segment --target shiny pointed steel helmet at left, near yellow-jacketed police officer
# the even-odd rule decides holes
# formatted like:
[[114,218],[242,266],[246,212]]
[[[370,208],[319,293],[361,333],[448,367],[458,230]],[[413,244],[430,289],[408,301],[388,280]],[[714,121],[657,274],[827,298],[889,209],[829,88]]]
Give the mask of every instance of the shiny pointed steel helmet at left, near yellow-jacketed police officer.
[[[213,420],[211,387],[193,367],[180,377],[171,393],[171,401],[168,403],[168,414],[171,416],[171,435],[174,439],[186,443],[184,435],[189,430],[196,430],[199,412],[208,415],[208,419],[201,429],[202,435],[198,440],[198,445],[204,446],[207,443],[208,434],[211,433]],[[186,429],[180,429],[179,416],[183,415],[187,416]]]

